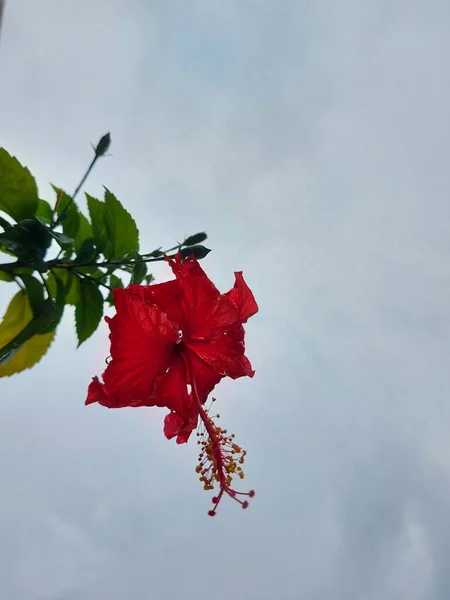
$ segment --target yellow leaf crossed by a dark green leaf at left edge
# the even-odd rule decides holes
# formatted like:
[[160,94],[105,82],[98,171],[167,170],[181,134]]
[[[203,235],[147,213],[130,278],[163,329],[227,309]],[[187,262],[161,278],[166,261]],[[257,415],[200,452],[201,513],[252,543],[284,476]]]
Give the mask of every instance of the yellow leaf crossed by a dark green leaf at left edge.
[[[19,292],[9,303],[3,321],[0,323],[0,348],[3,348],[20,333],[33,318],[28,295]],[[35,335],[13,354],[12,358],[0,365],[0,377],[8,377],[30,369],[41,360],[55,337],[55,331]]]

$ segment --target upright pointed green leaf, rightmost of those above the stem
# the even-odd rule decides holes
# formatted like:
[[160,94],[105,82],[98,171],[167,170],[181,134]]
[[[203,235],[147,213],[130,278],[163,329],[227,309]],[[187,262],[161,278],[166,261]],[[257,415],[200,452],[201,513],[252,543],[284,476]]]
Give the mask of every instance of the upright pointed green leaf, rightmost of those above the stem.
[[108,189],[105,188],[105,224],[112,243],[107,258],[134,255],[139,250],[139,231],[130,213]]

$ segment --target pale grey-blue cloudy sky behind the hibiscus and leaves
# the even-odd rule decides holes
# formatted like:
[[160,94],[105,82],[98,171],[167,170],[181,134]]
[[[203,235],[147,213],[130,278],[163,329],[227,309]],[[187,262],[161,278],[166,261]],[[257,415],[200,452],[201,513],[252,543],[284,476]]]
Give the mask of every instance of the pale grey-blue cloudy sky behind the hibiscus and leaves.
[[41,195],[110,130],[86,189],[149,251],[206,230],[260,313],[216,389],[246,512],[206,516],[164,411],[84,407],[106,326],[2,380],[2,599],[448,600],[449,34],[445,0],[7,2],[0,143]]

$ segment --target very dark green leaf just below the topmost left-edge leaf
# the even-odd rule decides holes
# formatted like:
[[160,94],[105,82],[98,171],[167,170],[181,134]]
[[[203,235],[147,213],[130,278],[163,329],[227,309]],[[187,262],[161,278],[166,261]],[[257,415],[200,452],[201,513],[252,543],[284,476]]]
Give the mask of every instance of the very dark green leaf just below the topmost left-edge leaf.
[[51,239],[49,230],[36,218],[25,219],[0,233],[0,247],[25,262],[36,264],[44,258]]

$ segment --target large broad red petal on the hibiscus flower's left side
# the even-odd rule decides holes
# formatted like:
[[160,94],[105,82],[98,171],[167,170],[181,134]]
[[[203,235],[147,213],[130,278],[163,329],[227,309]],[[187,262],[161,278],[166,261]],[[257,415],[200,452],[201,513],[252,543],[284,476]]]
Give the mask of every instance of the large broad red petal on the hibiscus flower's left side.
[[104,390],[114,406],[164,406],[150,399],[155,378],[170,365],[177,325],[134,292],[114,291],[117,314],[109,319],[111,357],[103,374]]

